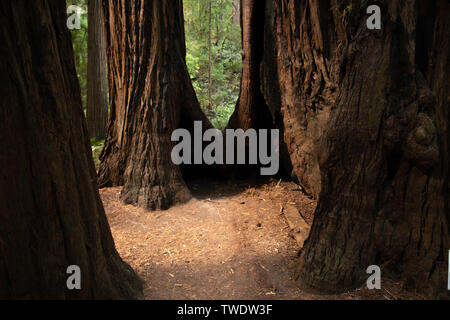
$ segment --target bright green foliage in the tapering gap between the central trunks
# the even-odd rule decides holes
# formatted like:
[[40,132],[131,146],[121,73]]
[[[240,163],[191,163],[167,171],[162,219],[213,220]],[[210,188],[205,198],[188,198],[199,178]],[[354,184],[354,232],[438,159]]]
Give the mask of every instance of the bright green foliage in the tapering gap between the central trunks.
[[[211,1],[212,59],[209,61],[209,1]],[[233,0],[184,0],[186,63],[200,106],[216,128],[222,129],[239,96],[241,31],[233,24]],[[212,97],[209,102],[211,63]]]

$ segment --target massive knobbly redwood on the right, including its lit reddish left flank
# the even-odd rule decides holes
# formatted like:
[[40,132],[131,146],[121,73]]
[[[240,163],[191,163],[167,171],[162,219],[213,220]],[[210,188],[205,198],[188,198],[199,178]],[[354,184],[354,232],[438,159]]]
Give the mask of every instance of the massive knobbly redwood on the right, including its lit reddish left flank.
[[363,1],[278,0],[266,14],[276,50],[263,71],[278,64],[264,83],[295,174],[320,193],[300,275],[336,292],[377,264],[448,297],[449,3],[378,3],[381,30],[367,28]]

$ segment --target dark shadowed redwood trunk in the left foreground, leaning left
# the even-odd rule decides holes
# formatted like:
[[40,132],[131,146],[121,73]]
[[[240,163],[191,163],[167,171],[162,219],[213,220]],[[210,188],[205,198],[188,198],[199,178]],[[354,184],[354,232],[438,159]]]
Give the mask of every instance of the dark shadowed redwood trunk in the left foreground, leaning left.
[[[97,191],[64,1],[0,4],[0,298],[135,298]],[[81,290],[69,291],[70,265]]]

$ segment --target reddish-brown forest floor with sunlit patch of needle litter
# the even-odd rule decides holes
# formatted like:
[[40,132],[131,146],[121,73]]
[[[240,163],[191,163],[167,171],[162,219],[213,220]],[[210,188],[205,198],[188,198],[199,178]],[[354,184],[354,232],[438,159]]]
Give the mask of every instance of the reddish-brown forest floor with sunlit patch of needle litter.
[[311,225],[316,201],[292,182],[190,184],[193,199],[166,211],[100,190],[117,250],[145,281],[146,299],[420,299],[393,281],[339,295],[299,289],[297,242],[283,210],[295,206]]

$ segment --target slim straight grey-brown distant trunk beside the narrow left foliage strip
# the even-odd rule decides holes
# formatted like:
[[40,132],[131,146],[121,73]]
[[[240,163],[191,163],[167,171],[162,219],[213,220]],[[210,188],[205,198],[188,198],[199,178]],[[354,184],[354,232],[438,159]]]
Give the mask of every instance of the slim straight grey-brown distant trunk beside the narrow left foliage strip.
[[91,138],[104,139],[108,120],[108,80],[102,0],[89,0],[87,123]]

